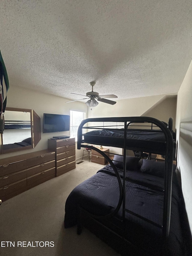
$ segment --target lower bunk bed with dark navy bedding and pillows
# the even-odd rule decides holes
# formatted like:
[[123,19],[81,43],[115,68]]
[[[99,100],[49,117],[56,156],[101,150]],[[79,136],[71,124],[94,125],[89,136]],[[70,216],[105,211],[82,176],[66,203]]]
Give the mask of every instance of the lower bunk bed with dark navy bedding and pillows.
[[[121,179],[122,161],[123,156],[115,155],[113,163]],[[168,239],[162,236],[165,164],[131,156],[126,157],[125,216],[121,205],[109,218],[120,194],[117,175],[109,164],[70,193],[65,204],[65,228],[77,224],[80,234],[81,225],[85,226],[122,255],[185,255],[180,224],[181,191],[175,169],[173,165]]]

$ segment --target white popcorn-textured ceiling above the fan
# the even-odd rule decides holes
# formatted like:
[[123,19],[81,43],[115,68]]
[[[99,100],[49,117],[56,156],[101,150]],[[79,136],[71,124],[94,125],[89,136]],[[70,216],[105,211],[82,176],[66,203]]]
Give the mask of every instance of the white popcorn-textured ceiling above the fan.
[[192,59],[191,0],[1,0],[10,86],[78,99],[176,93]]

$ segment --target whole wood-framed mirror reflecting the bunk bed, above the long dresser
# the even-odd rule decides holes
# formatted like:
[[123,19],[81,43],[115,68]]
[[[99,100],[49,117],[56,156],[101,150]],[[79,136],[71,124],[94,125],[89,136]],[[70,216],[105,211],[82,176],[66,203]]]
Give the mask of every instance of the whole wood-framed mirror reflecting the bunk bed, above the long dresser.
[[40,140],[41,119],[34,110],[11,107],[5,109],[1,154],[32,149]]

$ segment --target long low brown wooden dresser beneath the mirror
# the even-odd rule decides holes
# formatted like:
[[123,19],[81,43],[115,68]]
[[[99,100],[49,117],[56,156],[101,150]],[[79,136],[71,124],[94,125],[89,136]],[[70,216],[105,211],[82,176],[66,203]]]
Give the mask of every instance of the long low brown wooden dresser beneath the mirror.
[[2,201],[55,177],[55,152],[48,149],[4,158],[0,162]]

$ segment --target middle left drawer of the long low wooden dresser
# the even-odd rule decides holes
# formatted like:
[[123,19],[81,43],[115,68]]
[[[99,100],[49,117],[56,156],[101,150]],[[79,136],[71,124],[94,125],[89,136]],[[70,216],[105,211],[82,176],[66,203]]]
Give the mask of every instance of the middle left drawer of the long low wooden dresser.
[[25,179],[26,177],[27,177],[26,170],[4,175],[3,177],[0,178],[0,188],[10,183],[16,182],[18,180]]

